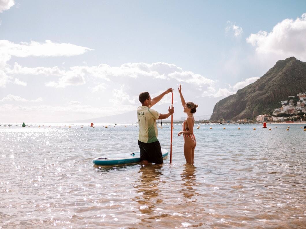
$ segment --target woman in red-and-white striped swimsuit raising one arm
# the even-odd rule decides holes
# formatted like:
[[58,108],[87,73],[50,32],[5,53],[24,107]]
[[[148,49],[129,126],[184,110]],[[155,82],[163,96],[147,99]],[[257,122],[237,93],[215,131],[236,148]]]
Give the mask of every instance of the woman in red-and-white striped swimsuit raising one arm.
[[178,92],[181,96],[181,102],[184,107],[184,112],[187,114],[187,118],[183,122],[183,131],[178,132],[178,136],[183,134],[184,137],[184,155],[186,162],[193,164],[194,149],[196,148],[196,138],[193,134],[194,117],[193,114],[196,113],[197,104],[192,102],[186,103],[182,95],[182,87],[178,88]]

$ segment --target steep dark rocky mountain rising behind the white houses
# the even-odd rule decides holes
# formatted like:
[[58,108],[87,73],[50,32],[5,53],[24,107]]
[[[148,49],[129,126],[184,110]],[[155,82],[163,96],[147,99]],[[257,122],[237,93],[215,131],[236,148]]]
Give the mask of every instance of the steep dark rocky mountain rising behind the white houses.
[[289,57],[276,62],[256,82],[220,100],[210,120],[252,119],[257,115],[272,114],[281,107],[281,100],[296,96],[306,89],[306,62]]

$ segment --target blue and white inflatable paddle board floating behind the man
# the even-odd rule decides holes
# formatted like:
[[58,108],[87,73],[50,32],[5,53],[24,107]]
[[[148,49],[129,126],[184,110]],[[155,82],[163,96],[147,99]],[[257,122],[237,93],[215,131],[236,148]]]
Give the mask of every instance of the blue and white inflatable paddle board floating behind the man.
[[[162,149],[162,157],[168,156],[168,151]],[[132,164],[140,162],[140,152],[134,152],[131,154],[114,154],[106,157],[99,157],[92,160],[95,165],[120,165],[120,164]]]

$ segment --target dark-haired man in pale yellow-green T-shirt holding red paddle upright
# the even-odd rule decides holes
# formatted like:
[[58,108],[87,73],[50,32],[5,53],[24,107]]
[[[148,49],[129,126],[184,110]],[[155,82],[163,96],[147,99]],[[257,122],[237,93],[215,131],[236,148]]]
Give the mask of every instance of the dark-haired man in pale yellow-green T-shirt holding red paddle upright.
[[148,163],[162,164],[162,149],[157,139],[157,119],[165,119],[174,113],[174,107],[168,109],[167,114],[160,114],[159,112],[152,110],[159,100],[166,94],[170,93],[173,89],[169,88],[159,96],[151,99],[148,92],[142,92],[139,94],[139,101],[141,106],[137,108],[137,117],[139,125],[138,145],[140,148],[140,161],[142,164]]

